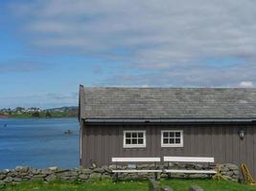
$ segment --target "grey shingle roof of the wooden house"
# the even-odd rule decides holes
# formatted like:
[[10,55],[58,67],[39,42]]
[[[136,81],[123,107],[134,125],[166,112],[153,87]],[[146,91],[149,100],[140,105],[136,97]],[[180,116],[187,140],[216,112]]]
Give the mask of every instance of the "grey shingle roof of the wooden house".
[[256,118],[256,89],[83,88],[81,118]]

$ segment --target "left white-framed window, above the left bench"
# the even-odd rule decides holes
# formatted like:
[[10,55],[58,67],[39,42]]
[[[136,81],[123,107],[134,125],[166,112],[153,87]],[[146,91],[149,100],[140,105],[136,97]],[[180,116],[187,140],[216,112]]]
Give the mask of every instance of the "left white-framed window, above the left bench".
[[124,131],[124,148],[146,147],[146,131]]

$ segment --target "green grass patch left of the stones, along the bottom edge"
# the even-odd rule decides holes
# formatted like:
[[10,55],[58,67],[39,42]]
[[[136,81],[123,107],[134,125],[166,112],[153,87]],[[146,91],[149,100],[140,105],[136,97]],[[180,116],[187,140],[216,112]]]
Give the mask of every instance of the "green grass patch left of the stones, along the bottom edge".
[[85,183],[53,181],[26,181],[0,188],[1,191],[149,191],[148,181],[97,180]]

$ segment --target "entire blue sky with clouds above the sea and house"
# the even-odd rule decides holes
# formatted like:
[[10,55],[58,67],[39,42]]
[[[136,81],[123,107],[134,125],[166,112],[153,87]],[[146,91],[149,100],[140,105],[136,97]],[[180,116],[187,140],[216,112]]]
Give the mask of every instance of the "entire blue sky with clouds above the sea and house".
[[78,105],[79,85],[256,84],[254,0],[0,0],[0,108]]

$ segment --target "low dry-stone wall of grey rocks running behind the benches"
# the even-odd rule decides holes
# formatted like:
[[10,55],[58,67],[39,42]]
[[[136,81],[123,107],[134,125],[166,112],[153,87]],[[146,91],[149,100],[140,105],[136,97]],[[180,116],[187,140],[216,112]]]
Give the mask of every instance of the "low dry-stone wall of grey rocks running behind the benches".
[[[214,169],[215,166],[207,166],[201,164],[179,164],[172,163],[170,166],[173,169]],[[162,166],[159,166],[159,169],[162,169]],[[114,174],[111,173],[112,169],[116,169],[115,165],[92,167],[92,168],[74,168],[74,169],[60,169],[58,167],[49,167],[45,169],[37,169],[30,168],[26,166],[17,166],[15,169],[5,169],[0,171],[0,184],[4,183],[15,183],[23,180],[93,180],[93,179],[112,179],[114,178]],[[117,169],[128,169],[127,166],[117,166]],[[140,164],[137,166],[137,169],[154,169],[154,166],[151,164]],[[221,175],[224,176],[228,180],[237,181],[239,178],[239,168],[234,164],[221,164],[220,166]],[[168,178],[168,174],[166,173],[158,173],[158,179]],[[154,175],[152,173],[134,173],[128,174],[123,173],[119,174],[120,180],[128,180],[128,179],[149,179],[153,178]],[[172,178],[209,178],[208,175],[203,174],[172,174]]]

